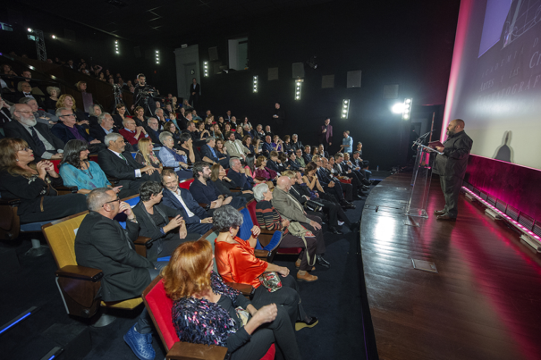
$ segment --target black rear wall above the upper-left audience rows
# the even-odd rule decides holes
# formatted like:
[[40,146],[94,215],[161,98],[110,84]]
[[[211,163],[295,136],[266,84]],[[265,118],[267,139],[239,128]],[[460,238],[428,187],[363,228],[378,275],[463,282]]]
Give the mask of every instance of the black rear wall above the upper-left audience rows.
[[[0,12],[0,21],[13,26],[13,31],[0,31],[0,52],[3,54],[14,51],[19,56],[27,54],[35,59],[36,43],[27,38],[27,28],[41,29],[45,35],[47,58],[55,60],[58,57],[61,61],[72,59],[75,65],[83,58],[87,63],[103,66],[103,71],[109,69],[114,75],[120,72],[124,81],[134,80],[139,72],[143,72],[148,83],[165,94],[176,88],[174,55],[170,47],[116,38],[51,13],[32,10],[30,6],[17,2],[11,2],[7,10]],[[74,33],[75,41],[66,38],[64,29]],[[58,39],[52,39],[53,34]],[[114,40],[119,42],[120,54],[114,53]],[[139,58],[135,56],[135,46],[140,47]],[[160,51],[159,64],[155,62],[156,50]]]

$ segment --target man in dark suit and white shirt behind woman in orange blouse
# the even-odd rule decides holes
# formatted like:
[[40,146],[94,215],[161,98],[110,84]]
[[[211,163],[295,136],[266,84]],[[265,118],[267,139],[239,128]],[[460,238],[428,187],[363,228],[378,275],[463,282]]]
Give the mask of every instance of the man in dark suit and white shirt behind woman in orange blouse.
[[173,207],[182,213],[188,232],[204,235],[212,229],[212,217],[193,199],[185,188],[179,187],[179,178],[173,170],[162,172],[164,190],[164,205]]

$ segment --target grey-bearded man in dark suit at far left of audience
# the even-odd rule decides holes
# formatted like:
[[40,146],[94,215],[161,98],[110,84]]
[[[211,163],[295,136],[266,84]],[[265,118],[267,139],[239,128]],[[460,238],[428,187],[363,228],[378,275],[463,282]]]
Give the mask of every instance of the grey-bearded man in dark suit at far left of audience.
[[10,107],[10,113],[16,121],[4,124],[6,138],[22,138],[36,158],[62,159],[63,141],[56,138],[46,124],[36,121],[29,105],[15,104]]

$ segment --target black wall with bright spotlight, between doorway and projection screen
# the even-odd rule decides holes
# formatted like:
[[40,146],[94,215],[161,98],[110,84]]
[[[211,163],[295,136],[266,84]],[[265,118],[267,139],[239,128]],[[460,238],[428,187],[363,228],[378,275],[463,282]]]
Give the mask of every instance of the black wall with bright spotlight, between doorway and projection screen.
[[[404,97],[413,98],[414,112],[426,112],[418,105],[444,104],[459,8],[459,1],[415,3],[337,1],[203,32],[201,62],[208,60],[208,47],[217,46],[219,61],[227,63],[227,39],[248,35],[249,70],[201,79],[201,110],[223,114],[231,109],[254,125],[272,125],[279,101],[288,122],[279,133],[299,133],[303,143],[313,145],[317,126],[331,116],[334,144],[341,142],[343,130],[351,130],[373,167],[402,163],[407,144],[399,144],[401,135],[402,141],[408,137],[409,125],[390,107]],[[292,63],[312,55],[317,55],[317,69],[305,67],[302,97],[295,101]],[[270,67],[279,68],[279,80],[267,80]],[[346,88],[347,71],[356,70],[362,71],[361,88]],[[321,88],[321,76],[328,74],[335,76],[334,88]],[[253,75],[259,76],[257,94]],[[386,84],[400,85],[397,100],[382,98]],[[344,98],[351,99],[347,120],[339,116]],[[440,107],[434,110],[441,122]]]

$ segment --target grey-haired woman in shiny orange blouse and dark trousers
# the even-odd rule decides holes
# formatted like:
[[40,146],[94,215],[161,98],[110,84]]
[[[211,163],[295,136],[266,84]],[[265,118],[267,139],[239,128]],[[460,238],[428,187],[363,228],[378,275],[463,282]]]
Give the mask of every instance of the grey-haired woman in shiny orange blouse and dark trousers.
[[[212,219],[220,233],[215,240],[216,267],[226,282],[249,284],[256,288],[252,301],[267,305],[275,303],[287,311],[296,330],[317,325],[317,317],[306,314],[297,291],[297,282],[287,267],[267,263],[254,255],[260,229],[254,226],[249,239],[237,236],[242,226],[242,215],[232,206],[216,210]],[[269,292],[258,277],[264,272],[280,274],[282,288]]]

